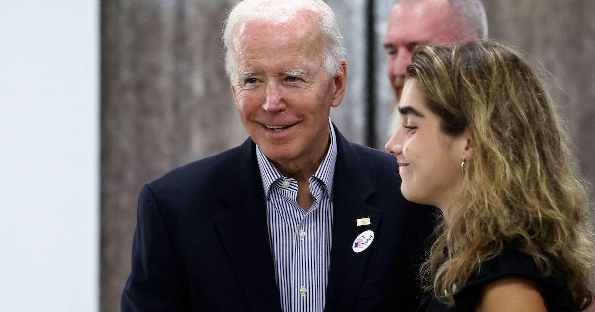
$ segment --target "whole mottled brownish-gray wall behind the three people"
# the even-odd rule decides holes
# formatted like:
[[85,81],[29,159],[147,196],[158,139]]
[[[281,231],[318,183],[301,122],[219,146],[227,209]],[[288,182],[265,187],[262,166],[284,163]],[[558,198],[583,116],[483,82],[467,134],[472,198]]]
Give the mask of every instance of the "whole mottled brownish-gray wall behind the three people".
[[[392,0],[328,0],[347,48],[348,81],[331,119],[367,143],[375,86],[376,137],[388,138],[392,95],[382,39]],[[130,272],[136,198],[169,169],[236,146],[247,137],[223,70],[221,22],[234,0],[104,0],[101,41],[101,310],[118,311]],[[568,121],[581,169],[595,181],[595,2],[484,0],[490,36],[543,62],[550,91]],[[367,67],[368,27],[375,33]],[[371,74],[370,74],[371,73]],[[555,79],[554,79],[555,78]],[[591,188],[591,191],[593,189]]]

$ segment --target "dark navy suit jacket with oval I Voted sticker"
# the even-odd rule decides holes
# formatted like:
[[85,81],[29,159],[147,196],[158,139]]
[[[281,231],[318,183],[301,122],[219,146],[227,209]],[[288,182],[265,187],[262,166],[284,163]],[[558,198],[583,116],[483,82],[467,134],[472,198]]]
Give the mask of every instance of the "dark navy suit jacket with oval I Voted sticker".
[[[412,264],[435,210],[402,197],[393,156],[336,133],[325,311],[414,311]],[[266,207],[250,139],[145,185],[122,311],[281,311]],[[366,230],[372,245],[354,253]]]

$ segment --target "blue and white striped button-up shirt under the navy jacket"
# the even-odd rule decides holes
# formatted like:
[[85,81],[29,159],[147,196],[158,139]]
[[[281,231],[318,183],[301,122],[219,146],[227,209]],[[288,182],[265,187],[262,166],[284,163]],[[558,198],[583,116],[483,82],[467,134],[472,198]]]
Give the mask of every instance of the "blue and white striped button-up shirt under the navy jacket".
[[284,312],[322,312],[333,227],[333,176],[337,140],[330,127],[327,155],[309,179],[315,200],[308,212],[297,204],[297,181],[283,177],[256,146],[267,201],[275,278]]

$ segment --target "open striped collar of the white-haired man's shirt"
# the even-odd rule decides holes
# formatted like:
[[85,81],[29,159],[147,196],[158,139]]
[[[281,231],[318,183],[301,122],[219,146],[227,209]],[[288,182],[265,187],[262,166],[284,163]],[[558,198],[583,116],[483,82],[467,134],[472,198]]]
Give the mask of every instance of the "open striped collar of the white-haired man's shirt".
[[[327,155],[324,157],[317,171],[312,175],[313,178],[319,179],[326,188],[327,194],[330,198],[333,198],[333,177],[335,163],[337,161],[337,138],[334,132],[333,124],[331,124],[330,118],[328,119],[328,128],[330,134],[330,144],[328,147]],[[273,166],[268,158],[262,153],[262,150],[256,144],[256,159],[258,160],[258,168],[261,174],[262,187],[265,190],[265,198],[268,199],[268,194],[271,190],[271,185],[278,179],[289,179],[283,177],[281,172]],[[310,179],[312,181],[312,178]]]

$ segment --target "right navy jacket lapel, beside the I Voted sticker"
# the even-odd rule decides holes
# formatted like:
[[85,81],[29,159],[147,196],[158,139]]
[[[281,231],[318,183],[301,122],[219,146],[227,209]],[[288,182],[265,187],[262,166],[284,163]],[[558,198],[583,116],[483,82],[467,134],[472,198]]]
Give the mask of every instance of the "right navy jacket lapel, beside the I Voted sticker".
[[[364,231],[377,232],[381,211],[366,200],[374,193],[369,172],[362,165],[355,149],[337,134],[337,163],[333,191],[333,244],[328,270],[325,311],[350,311],[364,276],[374,242],[366,250],[355,253],[353,241]],[[357,226],[356,220],[370,218],[371,225]]]

